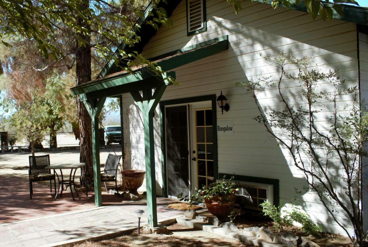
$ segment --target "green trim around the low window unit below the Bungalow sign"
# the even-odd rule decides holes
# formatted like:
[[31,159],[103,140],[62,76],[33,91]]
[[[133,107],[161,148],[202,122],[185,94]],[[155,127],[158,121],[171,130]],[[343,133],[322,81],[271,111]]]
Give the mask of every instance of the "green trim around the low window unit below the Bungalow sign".
[[275,205],[276,207],[280,205],[280,185],[279,185],[278,179],[219,173],[219,178],[223,178],[223,177],[225,177],[226,179],[234,177],[234,180],[236,181],[272,184],[273,185],[273,205]]

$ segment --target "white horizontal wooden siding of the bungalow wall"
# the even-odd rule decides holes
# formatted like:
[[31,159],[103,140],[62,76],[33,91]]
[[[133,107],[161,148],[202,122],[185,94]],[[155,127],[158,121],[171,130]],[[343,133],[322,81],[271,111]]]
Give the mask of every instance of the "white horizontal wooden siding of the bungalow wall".
[[[324,65],[324,71],[338,69],[339,75],[346,79],[347,84],[357,85],[355,24],[340,20],[323,21],[318,17],[313,21],[311,16],[304,12],[287,11],[284,8],[274,10],[267,4],[250,1],[243,2],[243,10],[239,11],[238,15],[234,13],[233,7],[227,6],[226,1],[207,0],[206,6],[206,32],[187,36],[185,0],[183,0],[170,17],[173,28],[161,27],[158,34],[145,46],[142,54],[146,58],[151,58],[222,35],[229,35],[228,51],[174,69],[177,81],[181,84],[168,87],[162,100],[218,95],[222,90],[229,99],[230,111],[222,115],[217,108],[217,121],[232,120],[234,136],[218,137],[218,172],[279,179],[280,200],[287,203],[294,198],[294,187],[301,189],[306,185],[304,175],[293,165],[290,154],[277,146],[263,125],[252,119],[259,114],[258,110],[250,95],[244,95],[245,91],[235,87],[234,83],[246,81],[261,73],[276,76],[275,67],[264,63],[259,53],[277,55],[284,51],[294,55],[314,56],[316,63]],[[367,51],[368,49],[365,49],[365,52]],[[368,65],[367,61],[365,65]],[[367,75],[368,70],[365,73]],[[368,83],[368,80],[365,82]],[[368,93],[368,86],[366,91]],[[268,90],[259,95],[258,100],[262,107],[280,105],[274,93],[273,90]],[[123,106],[125,109],[131,108],[130,122],[124,126],[125,128],[130,126],[130,131],[128,136],[124,131],[124,140],[128,140],[128,148],[131,148],[132,159],[134,158],[133,168],[144,170],[142,114],[137,110],[130,94],[123,95]],[[156,109],[154,123],[156,191],[161,194],[162,168],[158,116],[159,109]],[[325,122],[326,113],[320,118],[321,123]],[[277,133],[277,130],[275,131]],[[322,224],[325,230],[345,234],[329,218],[317,196],[303,195],[298,200],[301,208],[309,213],[313,220]],[[342,222],[346,222],[346,216],[342,211],[338,217]]]

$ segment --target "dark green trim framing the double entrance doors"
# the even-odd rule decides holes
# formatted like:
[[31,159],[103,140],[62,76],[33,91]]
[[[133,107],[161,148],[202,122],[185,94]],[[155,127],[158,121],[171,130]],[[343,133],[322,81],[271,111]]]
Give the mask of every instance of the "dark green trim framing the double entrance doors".
[[[166,173],[166,135],[165,135],[165,106],[166,105],[177,105],[177,104],[187,104],[193,102],[211,101],[212,102],[212,124],[217,126],[217,102],[216,94],[180,98],[174,100],[160,101],[160,134],[161,134],[161,164],[162,164],[162,196],[167,197],[167,173]],[[218,171],[218,159],[217,159],[217,130],[212,128],[213,135],[213,176],[215,179]]]

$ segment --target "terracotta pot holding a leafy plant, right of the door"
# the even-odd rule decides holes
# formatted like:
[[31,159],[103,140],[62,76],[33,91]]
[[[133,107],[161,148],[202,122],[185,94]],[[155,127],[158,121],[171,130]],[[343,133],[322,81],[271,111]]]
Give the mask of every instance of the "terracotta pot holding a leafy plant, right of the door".
[[[221,203],[219,203],[219,201]],[[215,215],[219,220],[225,220],[234,209],[235,195],[230,196],[229,200],[224,200],[223,197],[213,197],[211,199],[204,199],[204,203],[208,212]]]

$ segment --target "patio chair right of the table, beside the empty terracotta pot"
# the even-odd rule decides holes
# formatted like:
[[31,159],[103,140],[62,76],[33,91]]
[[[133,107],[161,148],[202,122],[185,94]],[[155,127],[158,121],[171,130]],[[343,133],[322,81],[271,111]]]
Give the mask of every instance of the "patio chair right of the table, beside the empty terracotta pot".
[[[117,171],[119,170],[118,165],[120,159],[121,155],[114,155],[109,153],[107,155],[104,169],[103,171],[101,171],[101,182],[104,182],[107,194],[109,194],[109,190],[107,189],[106,182],[115,181],[116,192],[117,195],[120,196],[117,189],[117,177],[116,177]],[[89,169],[93,169],[93,167],[89,167]],[[93,173],[87,173],[86,179],[93,181]],[[86,195],[88,196],[88,186],[86,186]]]

